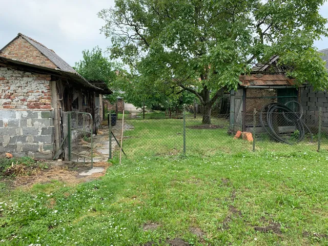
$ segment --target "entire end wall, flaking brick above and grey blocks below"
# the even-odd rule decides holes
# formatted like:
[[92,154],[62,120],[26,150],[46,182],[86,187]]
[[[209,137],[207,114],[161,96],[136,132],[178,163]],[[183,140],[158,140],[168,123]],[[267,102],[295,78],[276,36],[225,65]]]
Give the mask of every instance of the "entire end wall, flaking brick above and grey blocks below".
[[0,66],[0,153],[51,159],[51,76]]

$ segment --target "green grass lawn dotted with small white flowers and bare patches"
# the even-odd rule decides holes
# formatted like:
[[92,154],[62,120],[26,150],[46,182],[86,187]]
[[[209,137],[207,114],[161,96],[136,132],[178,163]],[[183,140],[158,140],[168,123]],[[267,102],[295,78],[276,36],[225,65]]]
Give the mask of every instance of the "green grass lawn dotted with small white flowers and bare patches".
[[99,180],[54,180],[29,190],[0,182],[0,243],[328,244],[328,153],[252,153],[242,140],[235,151],[225,129],[189,128],[182,156],[180,120],[161,121],[128,121],[129,159],[114,159]]

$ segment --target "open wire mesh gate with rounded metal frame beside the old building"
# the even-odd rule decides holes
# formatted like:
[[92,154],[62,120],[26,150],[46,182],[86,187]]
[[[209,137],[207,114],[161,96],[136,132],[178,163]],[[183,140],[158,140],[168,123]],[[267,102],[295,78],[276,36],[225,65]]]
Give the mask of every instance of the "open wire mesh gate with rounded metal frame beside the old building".
[[93,120],[89,113],[70,112],[71,160],[89,162],[93,159]]

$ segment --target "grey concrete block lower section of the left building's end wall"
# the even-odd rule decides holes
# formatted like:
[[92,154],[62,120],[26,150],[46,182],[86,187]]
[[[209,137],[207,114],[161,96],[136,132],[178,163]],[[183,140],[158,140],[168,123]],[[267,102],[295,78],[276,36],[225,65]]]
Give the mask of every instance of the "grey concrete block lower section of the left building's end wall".
[[51,159],[54,111],[0,110],[0,152],[15,157]]

